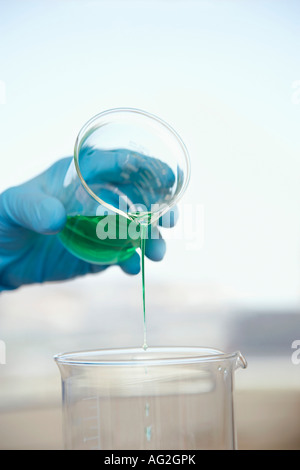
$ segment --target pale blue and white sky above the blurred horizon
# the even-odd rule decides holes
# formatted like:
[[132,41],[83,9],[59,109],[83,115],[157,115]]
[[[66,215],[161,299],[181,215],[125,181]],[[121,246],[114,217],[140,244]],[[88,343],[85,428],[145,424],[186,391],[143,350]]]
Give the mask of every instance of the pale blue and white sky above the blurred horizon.
[[0,190],[70,154],[98,112],[145,109],[185,141],[183,203],[205,211],[203,248],[171,241],[150,278],[297,307],[299,13],[297,0],[0,0]]

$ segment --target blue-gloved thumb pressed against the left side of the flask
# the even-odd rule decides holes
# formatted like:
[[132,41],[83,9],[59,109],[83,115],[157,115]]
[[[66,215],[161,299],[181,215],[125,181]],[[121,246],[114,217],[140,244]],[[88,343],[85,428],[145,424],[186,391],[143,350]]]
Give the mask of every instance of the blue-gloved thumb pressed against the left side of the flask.
[[11,226],[44,235],[60,232],[67,218],[58,199],[38,191],[25,192],[22,186],[10,188],[0,196],[0,216]]

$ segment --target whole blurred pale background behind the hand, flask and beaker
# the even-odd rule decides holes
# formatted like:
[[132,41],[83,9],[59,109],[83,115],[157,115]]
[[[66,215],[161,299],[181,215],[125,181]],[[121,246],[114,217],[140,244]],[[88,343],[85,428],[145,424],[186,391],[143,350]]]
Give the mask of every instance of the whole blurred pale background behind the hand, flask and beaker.
[[[244,354],[240,449],[300,449],[299,14],[297,0],[0,0],[0,191],[72,155],[106,109],[144,109],[184,140],[195,217],[147,262],[149,344]],[[141,278],[116,267],[2,293],[0,448],[62,448],[52,357],[142,331]]]

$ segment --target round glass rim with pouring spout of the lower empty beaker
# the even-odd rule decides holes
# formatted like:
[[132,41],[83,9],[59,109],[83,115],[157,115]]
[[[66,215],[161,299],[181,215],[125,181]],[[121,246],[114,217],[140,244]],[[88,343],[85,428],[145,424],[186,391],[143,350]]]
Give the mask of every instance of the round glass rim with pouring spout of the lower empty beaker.
[[232,360],[246,368],[247,362],[239,351],[224,353],[208,347],[149,347],[116,348],[60,353],[54,356],[58,365],[81,366],[163,366],[170,364],[210,363]]

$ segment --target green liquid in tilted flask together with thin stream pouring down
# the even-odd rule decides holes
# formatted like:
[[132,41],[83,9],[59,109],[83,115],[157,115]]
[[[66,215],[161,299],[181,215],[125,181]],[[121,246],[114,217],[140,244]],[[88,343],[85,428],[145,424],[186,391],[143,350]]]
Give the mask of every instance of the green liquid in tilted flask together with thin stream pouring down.
[[[134,220],[120,215],[69,216],[59,234],[63,245],[76,257],[93,264],[117,264],[141,250],[144,344],[147,346],[145,247],[150,214],[131,214]],[[134,224],[131,226],[131,224]],[[105,236],[104,239],[99,238]]]

